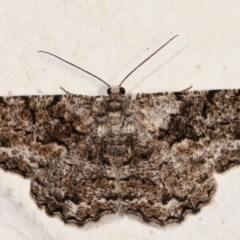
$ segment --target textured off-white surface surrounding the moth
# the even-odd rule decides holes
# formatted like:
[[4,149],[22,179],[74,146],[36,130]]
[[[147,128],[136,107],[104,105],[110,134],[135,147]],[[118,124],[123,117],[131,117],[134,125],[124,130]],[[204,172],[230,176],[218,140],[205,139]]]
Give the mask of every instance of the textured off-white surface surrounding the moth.
[[[175,34],[180,36],[124,84],[128,94],[240,88],[240,2],[1,0],[0,95],[105,94],[106,87],[57,54],[118,84]],[[82,228],[38,209],[30,182],[0,171],[1,239],[240,239],[240,167],[217,175],[210,205],[178,225],[149,226],[113,215]]]

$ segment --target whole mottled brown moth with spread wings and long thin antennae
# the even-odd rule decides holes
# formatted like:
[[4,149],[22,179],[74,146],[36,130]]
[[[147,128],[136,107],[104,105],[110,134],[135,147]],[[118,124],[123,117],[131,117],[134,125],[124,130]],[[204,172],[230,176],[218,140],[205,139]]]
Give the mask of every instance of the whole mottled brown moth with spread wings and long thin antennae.
[[165,225],[207,204],[213,173],[240,162],[240,90],[132,100],[121,85],[133,71],[109,86],[81,70],[108,96],[0,98],[0,166],[31,179],[39,207],[78,225],[118,211]]

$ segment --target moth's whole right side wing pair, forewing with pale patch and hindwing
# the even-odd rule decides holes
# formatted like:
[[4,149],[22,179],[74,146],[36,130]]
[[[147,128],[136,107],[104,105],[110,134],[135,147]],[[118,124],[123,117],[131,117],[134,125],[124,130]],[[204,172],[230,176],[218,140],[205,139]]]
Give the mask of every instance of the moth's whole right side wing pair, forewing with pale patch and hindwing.
[[181,221],[208,203],[213,171],[240,163],[240,91],[139,94],[139,138],[123,167],[123,211],[146,221]]

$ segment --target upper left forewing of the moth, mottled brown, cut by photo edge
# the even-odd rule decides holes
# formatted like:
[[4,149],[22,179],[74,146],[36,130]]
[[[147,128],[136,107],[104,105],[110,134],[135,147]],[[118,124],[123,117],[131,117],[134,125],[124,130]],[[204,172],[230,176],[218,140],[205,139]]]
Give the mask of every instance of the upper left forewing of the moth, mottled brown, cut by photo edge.
[[0,99],[0,165],[30,177],[90,131],[95,99],[22,96]]

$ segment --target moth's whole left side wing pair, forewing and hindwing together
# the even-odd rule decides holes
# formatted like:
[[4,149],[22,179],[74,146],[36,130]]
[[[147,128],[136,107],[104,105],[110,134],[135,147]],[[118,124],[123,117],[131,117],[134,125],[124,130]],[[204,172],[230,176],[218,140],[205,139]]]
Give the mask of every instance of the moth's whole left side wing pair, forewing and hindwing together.
[[97,97],[0,99],[0,165],[31,178],[31,195],[49,214],[84,224],[116,212],[109,166],[95,136]]

